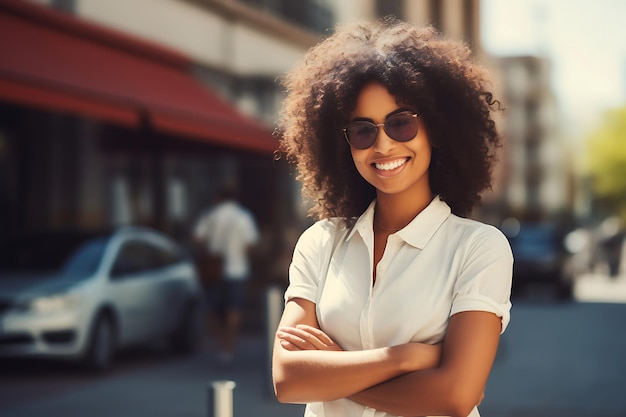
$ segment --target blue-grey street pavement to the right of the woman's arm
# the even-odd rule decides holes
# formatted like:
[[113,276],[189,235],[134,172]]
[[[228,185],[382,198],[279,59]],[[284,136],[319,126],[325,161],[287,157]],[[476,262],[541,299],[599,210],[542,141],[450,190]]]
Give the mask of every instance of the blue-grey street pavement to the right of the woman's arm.
[[486,417],[626,416],[626,304],[513,300]]

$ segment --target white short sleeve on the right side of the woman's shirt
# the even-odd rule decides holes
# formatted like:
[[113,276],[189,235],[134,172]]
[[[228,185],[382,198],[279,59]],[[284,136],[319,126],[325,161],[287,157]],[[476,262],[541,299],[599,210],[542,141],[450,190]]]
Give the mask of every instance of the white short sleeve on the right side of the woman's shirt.
[[513,255],[495,227],[482,228],[469,240],[456,281],[450,315],[487,311],[501,318],[504,332],[510,320]]

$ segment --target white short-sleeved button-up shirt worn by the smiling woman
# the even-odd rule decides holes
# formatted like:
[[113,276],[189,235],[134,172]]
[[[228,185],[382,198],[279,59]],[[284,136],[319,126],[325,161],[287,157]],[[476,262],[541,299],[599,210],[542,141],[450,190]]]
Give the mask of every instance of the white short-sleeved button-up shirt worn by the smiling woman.
[[[495,227],[451,214],[438,197],[389,236],[372,285],[373,202],[347,229],[339,219],[307,229],[295,248],[285,300],[316,304],[322,330],[346,350],[437,343],[453,314],[509,322],[513,257]],[[308,404],[306,417],[390,417],[348,399]],[[479,416],[474,408],[471,417]]]

